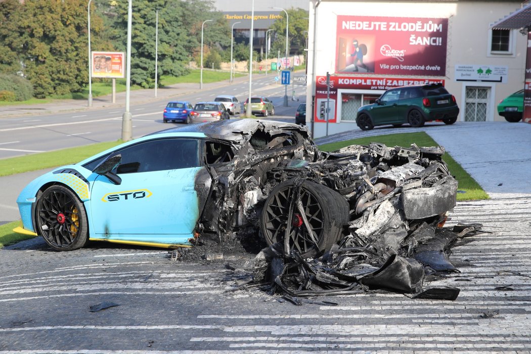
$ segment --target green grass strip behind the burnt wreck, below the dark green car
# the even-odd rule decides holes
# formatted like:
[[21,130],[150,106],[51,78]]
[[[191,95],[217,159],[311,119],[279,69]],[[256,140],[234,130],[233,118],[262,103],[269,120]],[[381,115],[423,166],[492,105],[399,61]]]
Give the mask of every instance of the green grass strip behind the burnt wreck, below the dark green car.
[[[415,143],[417,146],[436,146],[438,145],[429,135],[424,132],[406,133],[406,134],[388,134],[378,135],[372,137],[362,137],[359,139],[341,141],[331,144],[320,145],[319,148],[323,151],[334,151],[343,148],[347,145],[368,145],[371,142],[379,142],[387,146],[403,146],[409,147]],[[472,178],[467,171],[457,163],[450,154],[446,153],[442,159],[447,163],[448,169],[452,176],[459,182],[457,200],[482,200],[489,199],[489,195],[483,191],[481,186]]]

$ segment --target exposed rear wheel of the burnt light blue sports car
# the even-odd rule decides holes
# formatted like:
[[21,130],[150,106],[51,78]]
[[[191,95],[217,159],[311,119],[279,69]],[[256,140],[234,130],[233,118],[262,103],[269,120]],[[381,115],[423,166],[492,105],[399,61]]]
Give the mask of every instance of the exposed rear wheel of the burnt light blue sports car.
[[[293,200],[294,180],[287,180],[272,189],[263,205],[260,230],[268,245],[284,246],[288,226],[290,202]],[[315,257],[328,251],[342,236],[348,223],[349,208],[343,196],[321,184],[305,181],[301,185],[299,200],[316,243],[309,237],[304,219],[296,205],[290,220],[289,248],[303,257]]]

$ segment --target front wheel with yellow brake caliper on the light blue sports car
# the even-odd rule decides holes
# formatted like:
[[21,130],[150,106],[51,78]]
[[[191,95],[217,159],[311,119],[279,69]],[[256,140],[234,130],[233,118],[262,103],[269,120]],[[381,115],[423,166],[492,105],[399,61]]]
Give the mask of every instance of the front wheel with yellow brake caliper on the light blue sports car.
[[87,213],[83,203],[62,185],[48,187],[36,205],[37,234],[56,251],[72,251],[88,241]]

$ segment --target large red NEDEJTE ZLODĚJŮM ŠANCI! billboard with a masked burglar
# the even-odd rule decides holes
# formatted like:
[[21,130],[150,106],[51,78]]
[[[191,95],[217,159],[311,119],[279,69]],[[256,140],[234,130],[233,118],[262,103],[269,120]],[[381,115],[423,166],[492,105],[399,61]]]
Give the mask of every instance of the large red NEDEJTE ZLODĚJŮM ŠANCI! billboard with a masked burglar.
[[336,73],[446,76],[448,19],[337,16]]

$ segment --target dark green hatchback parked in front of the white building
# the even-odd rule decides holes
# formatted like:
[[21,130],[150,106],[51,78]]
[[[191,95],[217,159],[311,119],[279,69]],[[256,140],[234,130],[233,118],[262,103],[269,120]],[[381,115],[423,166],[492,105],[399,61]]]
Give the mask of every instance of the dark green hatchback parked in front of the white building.
[[436,83],[389,89],[374,103],[358,109],[356,123],[362,130],[405,123],[418,128],[431,120],[453,124],[458,115],[456,98]]

